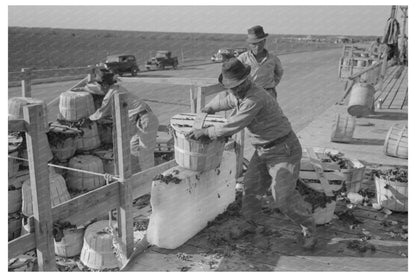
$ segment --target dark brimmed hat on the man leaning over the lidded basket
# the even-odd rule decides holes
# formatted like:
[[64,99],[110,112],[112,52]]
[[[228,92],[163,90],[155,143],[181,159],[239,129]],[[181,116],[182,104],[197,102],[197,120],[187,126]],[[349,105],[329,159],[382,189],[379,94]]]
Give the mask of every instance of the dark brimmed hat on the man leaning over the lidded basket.
[[251,67],[244,65],[240,60],[231,58],[222,64],[218,82],[225,88],[234,88],[244,82],[249,76]]

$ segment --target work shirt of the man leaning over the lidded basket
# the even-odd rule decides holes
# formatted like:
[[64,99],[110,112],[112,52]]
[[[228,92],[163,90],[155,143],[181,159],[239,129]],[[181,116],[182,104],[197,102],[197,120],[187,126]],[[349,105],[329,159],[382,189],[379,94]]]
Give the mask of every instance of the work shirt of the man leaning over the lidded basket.
[[215,112],[236,109],[227,123],[208,127],[211,139],[231,136],[247,127],[253,145],[263,145],[292,131],[290,122],[277,101],[255,84],[251,85],[243,99],[238,99],[231,93],[221,93],[206,107]]

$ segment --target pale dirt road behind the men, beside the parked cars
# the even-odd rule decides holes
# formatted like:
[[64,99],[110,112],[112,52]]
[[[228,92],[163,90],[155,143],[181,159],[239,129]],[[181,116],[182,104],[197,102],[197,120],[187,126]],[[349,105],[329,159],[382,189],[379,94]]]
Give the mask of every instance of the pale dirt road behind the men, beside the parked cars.
[[[342,97],[344,84],[337,79],[340,53],[340,49],[333,49],[280,56],[285,72],[277,87],[278,101],[295,131],[301,130]],[[216,78],[220,71],[221,64],[207,61],[205,64],[185,66],[178,70],[140,72],[138,77],[121,78],[121,84],[149,100],[148,103],[161,124],[167,124],[174,114],[189,111],[189,87],[142,84],[136,81],[140,77]],[[32,96],[50,102],[75,83],[76,81],[69,81],[34,85]],[[9,88],[9,97],[19,96],[20,91],[20,87]],[[57,111],[56,102],[48,112],[50,121],[56,119]]]

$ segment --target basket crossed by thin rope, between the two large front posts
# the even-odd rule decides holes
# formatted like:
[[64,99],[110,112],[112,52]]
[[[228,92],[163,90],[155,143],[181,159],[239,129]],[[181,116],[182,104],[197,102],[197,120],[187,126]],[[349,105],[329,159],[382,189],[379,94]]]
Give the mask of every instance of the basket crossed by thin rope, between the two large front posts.
[[[68,167],[104,173],[103,162],[100,158],[92,155],[77,155],[69,160]],[[105,184],[102,176],[92,175],[83,172],[68,170],[68,188],[75,191],[90,191]]]

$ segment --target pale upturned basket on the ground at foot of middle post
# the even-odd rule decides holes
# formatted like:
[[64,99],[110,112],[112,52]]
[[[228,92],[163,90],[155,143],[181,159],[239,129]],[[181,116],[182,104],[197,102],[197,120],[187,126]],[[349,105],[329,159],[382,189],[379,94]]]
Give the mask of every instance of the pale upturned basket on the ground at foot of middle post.
[[103,270],[121,267],[113,253],[113,236],[108,227],[109,221],[102,220],[85,230],[80,260],[89,268]]

